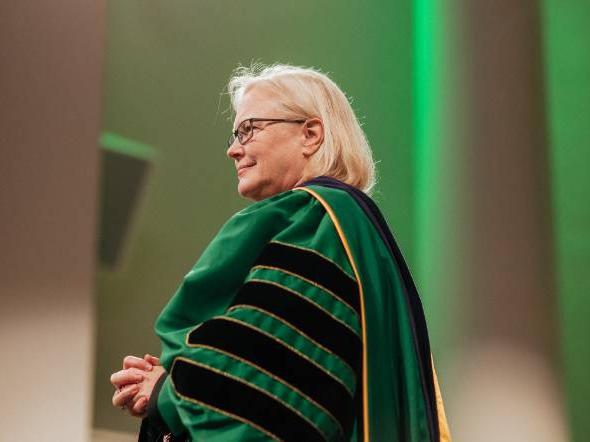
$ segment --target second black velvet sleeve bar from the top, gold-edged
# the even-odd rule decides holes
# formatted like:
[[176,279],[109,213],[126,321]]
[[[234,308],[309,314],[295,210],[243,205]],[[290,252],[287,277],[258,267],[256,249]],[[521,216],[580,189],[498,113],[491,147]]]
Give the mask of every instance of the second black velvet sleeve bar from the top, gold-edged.
[[301,330],[358,372],[361,338],[319,307],[288,290],[261,281],[249,281],[232,305],[266,310]]

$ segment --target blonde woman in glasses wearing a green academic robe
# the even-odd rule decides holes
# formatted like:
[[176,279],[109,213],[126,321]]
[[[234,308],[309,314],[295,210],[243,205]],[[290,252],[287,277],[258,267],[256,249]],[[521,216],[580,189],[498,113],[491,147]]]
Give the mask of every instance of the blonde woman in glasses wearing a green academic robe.
[[[379,210],[344,93],[293,66],[240,68],[227,155],[256,201],[221,229],[128,356],[113,404],[140,439],[449,440],[424,315]],[[172,439],[170,439],[172,440]]]

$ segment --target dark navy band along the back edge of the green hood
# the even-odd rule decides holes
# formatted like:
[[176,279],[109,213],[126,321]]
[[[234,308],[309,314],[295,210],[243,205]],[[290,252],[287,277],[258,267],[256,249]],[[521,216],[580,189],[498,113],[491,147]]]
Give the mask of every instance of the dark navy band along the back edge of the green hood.
[[430,356],[430,341],[428,338],[428,329],[426,326],[426,318],[422,308],[422,302],[416,285],[406,264],[406,261],[399,249],[397,242],[383,214],[369,196],[361,190],[345,184],[339,180],[330,177],[317,177],[310,181],[303,183],[303,186],[324,186],[334,189],[340,189],[347,192],[363,210],[367,218],[371,221],[383,243],[388,248],[391,257],[398,268],[403,280],[404,294],[410,310],[410,320],[412,323],[412,331],[414,334],[414,342],[420,360],[420,370],[422,384],[424,388],[425,401],[429,405],[427,407],[428,422],[430,427],[430,440],[438,441],[440,439],[440,431],[438,426],[438,411],[436,404],[436,396],[434,391],[434,375],[432,373],[432,364]]

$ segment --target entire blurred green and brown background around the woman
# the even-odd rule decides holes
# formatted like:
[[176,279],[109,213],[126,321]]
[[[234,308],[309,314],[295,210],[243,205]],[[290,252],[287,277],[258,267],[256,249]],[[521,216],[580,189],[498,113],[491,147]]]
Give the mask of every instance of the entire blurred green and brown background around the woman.
[[127,441],[126,354],[247,201],[225,84],[351,97],[456,441],[586,441],[587,0],[0,4],[0,441]]

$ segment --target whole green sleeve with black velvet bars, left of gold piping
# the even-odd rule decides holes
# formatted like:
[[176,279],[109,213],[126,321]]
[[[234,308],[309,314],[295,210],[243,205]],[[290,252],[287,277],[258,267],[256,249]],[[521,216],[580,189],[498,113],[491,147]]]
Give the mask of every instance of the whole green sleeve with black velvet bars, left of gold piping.
[[344,440],[359,289],[325,207],[294,190],[233,216],[156,323],[158,411],[195,440]]

